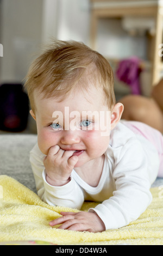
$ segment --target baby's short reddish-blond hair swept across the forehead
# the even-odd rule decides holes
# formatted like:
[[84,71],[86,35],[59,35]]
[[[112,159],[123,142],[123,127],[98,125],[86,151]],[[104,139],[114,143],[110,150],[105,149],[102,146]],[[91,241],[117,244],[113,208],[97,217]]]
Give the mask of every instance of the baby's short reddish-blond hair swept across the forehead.
[[[35,111],[34,91],[43,97],[64,97],[77,86],[83,74],[90,73],[100,81],[106,104],[115,104],[114,76],[109,62],[82,42],[54,41],[29,68],[24,88]],[[82,83],[83,87],[87,87]],[[81,88],[81,84],[80,84]],[[81,88],[82,89],[82,88]]]

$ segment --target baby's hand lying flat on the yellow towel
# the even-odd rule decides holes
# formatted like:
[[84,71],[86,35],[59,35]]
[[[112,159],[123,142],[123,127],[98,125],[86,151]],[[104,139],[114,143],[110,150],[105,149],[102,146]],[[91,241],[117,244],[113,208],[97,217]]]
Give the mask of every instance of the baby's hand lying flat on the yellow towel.
[[89,231],[93,233],[105,230],[103,221],[94,212],[60,212],[60,214],[62,217],[49,223],[52,227],[62,224],[59,229]]

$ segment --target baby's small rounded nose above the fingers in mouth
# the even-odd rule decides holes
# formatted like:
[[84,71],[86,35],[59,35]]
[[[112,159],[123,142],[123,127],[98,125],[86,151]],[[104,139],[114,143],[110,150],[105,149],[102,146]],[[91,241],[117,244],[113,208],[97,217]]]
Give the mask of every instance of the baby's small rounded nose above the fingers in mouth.
[[65,131],[64,136],[61,137],[61,143],[72,145],[80,142],[80,137],[75,131]]

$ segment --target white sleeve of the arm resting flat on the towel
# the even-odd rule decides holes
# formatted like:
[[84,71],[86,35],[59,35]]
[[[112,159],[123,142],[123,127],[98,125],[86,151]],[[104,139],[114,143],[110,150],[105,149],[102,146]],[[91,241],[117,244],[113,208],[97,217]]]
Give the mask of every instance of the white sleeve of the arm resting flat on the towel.
[[130,140],[120,150],[112,173],[116,190],[96,206],[95,211],[106,229],[117,229],[136,220],[152,202],[148,160],[140,142]]

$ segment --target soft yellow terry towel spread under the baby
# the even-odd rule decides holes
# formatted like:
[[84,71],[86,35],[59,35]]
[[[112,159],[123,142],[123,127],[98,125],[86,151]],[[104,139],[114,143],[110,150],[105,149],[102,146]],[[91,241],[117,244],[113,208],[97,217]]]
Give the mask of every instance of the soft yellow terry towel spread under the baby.
[[[0,242],[40,240],[55,245],[163,245],[163,188],[152,188],[153,202],[134,222],[121,229],[89,233],[49,226],[60,211],[78,211],[49,206],[27,187],[0,175]],[[85,202],[82,210],[97,203]]]

